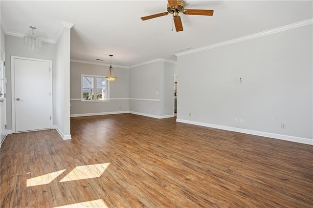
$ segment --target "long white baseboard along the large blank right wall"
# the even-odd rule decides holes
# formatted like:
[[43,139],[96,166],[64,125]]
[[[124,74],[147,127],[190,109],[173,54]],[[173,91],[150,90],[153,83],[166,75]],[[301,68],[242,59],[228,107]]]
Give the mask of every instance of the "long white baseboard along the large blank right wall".
[[224,126],[224,125],[207,124],[207,123],[194,122],[194,121],[188,121],[188,120],[183,120],[183,119],[176,119],[176,122],[185,123],[185,124],[193,124],[193,125],[201,125],[201,126],[206,126],[206,127],[211,127],[211,128],[223,129],[227,131],[235,131],[235,132],[244,133],[244,134],[252,134],[256,136],[286,140],[286,141],[297,142],[297,143],[302,143],[306,145],[313,145],[313,140],[307,139],[307,138],[294,137],[294,136],[288,136],[288,135],[283,135],[283,134],[274,134],[274,133],[268,133],[268,132],[263,132],[263,131],[248,130],[248,129],[243,129],[243,128],[235,128],[235,127]]

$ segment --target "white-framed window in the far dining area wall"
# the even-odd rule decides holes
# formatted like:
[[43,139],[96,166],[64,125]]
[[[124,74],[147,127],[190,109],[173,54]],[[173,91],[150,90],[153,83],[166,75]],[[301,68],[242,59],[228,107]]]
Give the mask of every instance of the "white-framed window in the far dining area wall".
[[105,77],[82,75],[82,101],[108,101],[108,95]]

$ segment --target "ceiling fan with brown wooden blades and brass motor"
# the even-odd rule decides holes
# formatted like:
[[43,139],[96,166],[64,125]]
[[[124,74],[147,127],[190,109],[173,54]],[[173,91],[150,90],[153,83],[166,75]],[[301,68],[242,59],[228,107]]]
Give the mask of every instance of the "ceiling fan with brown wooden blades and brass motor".
[[158,13],[155,15],[149,15],[146,17],[142,17],[141,20],[150,20],[156,17],[166,16],[168,14],[173,14],[174,23],[176,31],[183,31],[182,23],[179,17],[179,13],[183,13],[185,15],[206,15],[212,16],[213,10],[207,9],[185,9],[184,2],[182,0],[167,0],[167,12]]

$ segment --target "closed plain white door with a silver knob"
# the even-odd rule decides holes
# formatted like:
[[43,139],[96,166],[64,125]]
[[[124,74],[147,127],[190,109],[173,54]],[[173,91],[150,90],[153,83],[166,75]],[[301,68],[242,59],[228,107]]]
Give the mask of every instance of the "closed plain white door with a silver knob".
[[51,63],[14,58],[15,132],[52,128]]

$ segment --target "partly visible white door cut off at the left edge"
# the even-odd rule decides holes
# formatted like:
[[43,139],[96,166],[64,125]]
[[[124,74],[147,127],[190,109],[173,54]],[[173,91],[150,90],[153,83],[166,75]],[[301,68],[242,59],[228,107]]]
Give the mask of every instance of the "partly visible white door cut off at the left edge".
[[1,51],[0,56],[0,143],[7,135],[6,131],[6,101],[5,101],[5,67],[4,54]]

